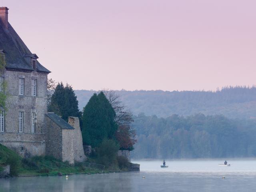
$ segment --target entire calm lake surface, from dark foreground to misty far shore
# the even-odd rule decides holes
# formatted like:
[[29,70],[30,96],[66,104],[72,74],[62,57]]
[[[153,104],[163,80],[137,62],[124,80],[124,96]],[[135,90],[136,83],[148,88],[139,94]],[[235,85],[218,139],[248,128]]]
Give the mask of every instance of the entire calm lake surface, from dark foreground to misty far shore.
[[[133,161],[140,172],[0,179],[0,192],[250,192],[256,160]],[[142,178],[142,177],[145,178]],[[225,178],[222,178],[225,177]]]

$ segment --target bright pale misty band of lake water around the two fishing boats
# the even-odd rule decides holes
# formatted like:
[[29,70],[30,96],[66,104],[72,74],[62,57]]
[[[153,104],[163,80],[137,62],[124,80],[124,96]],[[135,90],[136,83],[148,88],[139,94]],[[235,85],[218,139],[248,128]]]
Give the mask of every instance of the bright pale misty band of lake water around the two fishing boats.
[[[227,160],[230,167],[218,166]],[[162,160],[140,161],[141,172],[169,173],[216,173],[216,174],[256,174],[256,159],[206,159],[206,160],[165,160],[168,168],[161,168]]]

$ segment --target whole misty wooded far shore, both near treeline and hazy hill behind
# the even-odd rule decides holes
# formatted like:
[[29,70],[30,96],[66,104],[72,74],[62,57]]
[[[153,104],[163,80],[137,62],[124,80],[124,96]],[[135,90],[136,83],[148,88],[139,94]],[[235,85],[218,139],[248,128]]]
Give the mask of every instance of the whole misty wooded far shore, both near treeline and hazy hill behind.
[[[80,109],[94,91],[77,90]],[[132,158],[256,157],[256,88],[116,91],[134,113]]]

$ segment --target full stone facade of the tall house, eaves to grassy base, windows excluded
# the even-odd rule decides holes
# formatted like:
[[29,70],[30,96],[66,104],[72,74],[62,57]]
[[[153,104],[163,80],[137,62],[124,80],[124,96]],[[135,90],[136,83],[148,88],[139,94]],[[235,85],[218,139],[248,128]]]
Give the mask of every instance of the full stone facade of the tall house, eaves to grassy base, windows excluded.
[[[7,83],[4,132],[0,143],[24,157],[45,154],[45,113],[47,112],[47,74],[5,70]],[[24,95],[18,95],[19,78],[24,78]],[[32,96],[32,79],[37,80],[37,96]],[[19,132],[19,112],[23,112],[23,131]],[[35,132],[32,133],[32,112],[36,113]]]

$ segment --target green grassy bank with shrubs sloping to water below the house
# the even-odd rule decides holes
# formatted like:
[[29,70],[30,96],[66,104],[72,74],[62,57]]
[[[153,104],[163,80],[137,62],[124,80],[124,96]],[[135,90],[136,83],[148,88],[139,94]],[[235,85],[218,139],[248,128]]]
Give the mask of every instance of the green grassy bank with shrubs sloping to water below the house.
[[[95,163],[95,158],[88,158]],[[124,162],[123,162],[124,161]],[[125,160],[119,160],[119,164],[113,164],[105,168],[104,173],[128,171]],[[62,162],[51,156],[35,156],[21,158],[14,152],[0,144],[0,168],[10,164],[12,176],[54,176],[66,174],[96,174],[102,170],[90,169],[84,166],[72,166],[68,162]]]

